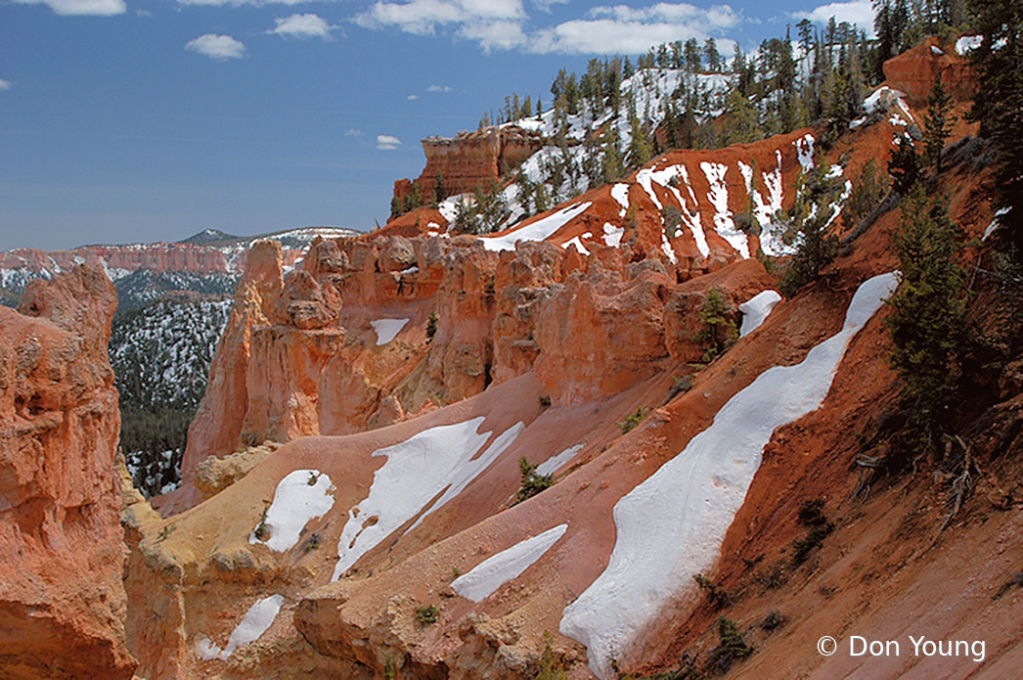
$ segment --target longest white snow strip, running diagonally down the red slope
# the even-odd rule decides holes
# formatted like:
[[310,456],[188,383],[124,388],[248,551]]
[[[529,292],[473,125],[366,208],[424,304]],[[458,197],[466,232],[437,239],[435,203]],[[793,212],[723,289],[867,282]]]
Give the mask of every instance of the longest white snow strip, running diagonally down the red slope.
[[856,291],[842,330],[795,366],[764,371],[718,411],[684,450],[615,505],[607,569],[565,608],[561,632],[586,645],[590,669],[612,677],[636,634],[718,559],[771,434],[820,406],[849,341],[898,285],[876,276]]

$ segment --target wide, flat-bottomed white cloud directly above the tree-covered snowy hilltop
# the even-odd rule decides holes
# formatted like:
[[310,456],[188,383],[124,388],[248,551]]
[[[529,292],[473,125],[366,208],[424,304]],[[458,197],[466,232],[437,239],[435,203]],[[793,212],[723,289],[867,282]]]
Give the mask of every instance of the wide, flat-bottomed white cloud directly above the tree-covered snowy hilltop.
[[641,54],[664,42],[690,38],[703,41],[744,20],[742,12],[729,5],[703,8],[685,2],[661,2],[641,8],[599,6],[589,11],[588,18],[538,31],[530,37],[526,49],[539,53]]

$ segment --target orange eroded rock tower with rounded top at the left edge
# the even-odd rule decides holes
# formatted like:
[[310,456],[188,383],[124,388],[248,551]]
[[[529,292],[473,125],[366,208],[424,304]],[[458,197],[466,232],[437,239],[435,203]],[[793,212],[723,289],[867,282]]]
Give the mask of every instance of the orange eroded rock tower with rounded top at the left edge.
[[131,678],[121,582],[117,292],[76,267],[0,308],[0,669]]

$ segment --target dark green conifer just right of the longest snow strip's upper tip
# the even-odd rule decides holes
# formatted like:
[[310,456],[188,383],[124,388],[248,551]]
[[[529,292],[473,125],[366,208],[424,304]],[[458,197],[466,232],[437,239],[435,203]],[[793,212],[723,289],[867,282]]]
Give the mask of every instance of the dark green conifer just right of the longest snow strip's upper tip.
[[915,185],[893,239],[901,283],[885,323],[894,345],[890,362],[905,382],[920,443],[932,450],[957,398],[966,339],[967,278],[954,259],[958,237],[946,201],[929,199],[924,186]]

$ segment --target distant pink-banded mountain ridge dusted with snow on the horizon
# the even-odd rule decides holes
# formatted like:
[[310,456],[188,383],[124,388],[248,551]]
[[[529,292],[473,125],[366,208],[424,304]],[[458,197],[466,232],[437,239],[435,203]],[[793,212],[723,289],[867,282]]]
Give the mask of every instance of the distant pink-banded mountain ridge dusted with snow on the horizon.
[[261,238],[280,241],[284,266],[294,268],[317,236],[359,232],[341,227],[303,227],[257,236],[207,229],[178,242],[82,245],[70,251],[15,248],[0,252],[0,303],[16,305],[28,282],[52,279],[78,264],[100,267],[118,288],[119,312],[138,309],[174,292],[230,296],[244,270],[249,245]]

